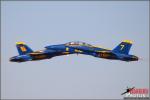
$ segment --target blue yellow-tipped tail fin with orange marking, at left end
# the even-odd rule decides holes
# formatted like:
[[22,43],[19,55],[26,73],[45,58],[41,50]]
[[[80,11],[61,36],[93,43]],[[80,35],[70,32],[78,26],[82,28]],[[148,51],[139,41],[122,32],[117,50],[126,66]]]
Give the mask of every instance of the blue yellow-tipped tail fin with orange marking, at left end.
[[33,52],[33,50],[30,47],[28,47],[24,42],[17,42],[16,47],[19,55]]

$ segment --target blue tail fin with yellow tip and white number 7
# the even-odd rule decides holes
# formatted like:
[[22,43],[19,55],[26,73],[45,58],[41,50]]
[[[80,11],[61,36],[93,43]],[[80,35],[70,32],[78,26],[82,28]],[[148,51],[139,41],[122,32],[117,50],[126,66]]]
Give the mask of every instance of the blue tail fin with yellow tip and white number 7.
[[117,47],[115,47],[112,51],[122,54],[128,54],[130,48],[132,46],[132,41],[124,40]]

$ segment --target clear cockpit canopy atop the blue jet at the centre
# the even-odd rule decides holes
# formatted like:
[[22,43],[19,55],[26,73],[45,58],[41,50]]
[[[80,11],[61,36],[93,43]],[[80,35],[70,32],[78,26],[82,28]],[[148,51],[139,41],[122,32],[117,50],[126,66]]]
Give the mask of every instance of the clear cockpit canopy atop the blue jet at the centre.
[[66,46],[87,46],[87,47],[93,47],[90,44],[87,44],[85,42],[80,42],[80,41],[72,41],[72,42],[68,42],[65,44]]

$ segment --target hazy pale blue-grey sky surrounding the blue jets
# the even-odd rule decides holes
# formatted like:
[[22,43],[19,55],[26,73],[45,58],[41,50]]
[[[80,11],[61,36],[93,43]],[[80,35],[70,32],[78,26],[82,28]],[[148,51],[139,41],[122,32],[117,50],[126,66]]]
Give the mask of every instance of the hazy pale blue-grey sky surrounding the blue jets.
[[[126,87],[149,88],[148,1],[1,2],[1,96],[3,99],[121,99]],[[33,50],[69,41],[113,49],[134,42],[136,62],[87,55],[24,63],[15,43]]]

